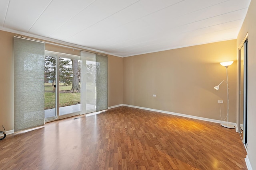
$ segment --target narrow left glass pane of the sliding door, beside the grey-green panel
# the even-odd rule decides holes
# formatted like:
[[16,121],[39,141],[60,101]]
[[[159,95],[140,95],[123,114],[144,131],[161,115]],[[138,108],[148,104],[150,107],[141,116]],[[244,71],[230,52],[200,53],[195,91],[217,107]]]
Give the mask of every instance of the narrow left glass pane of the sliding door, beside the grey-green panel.
[[44,57],[44,118],[56,118],[56,56]]

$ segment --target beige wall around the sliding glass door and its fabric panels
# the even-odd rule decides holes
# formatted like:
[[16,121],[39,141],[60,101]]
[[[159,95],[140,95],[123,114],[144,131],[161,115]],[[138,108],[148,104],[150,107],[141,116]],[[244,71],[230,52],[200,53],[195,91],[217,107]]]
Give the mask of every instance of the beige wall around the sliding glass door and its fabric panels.
[[[14,76],[13,76],[13,37],[17,35],[6,31],[0,31],[0,125],[4,125],[6,131],[14,129]],[[46,44],[46,50],[60,53],[80,55],[80,51],[56,45]],[[108,106],[122,104],[122,58],[108,56]],[[2,131],[0,127],[0,131]]]

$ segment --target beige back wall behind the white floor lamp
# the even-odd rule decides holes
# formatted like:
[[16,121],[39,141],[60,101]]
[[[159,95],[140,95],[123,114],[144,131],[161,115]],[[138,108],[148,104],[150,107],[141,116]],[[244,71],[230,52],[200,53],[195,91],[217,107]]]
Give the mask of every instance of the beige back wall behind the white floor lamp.
[[[229,68],[230,115],[236,122],[236,40],[124,58],[124,104],[220,120],[226,114]],[[153,97],[156,94],[156,97]]]

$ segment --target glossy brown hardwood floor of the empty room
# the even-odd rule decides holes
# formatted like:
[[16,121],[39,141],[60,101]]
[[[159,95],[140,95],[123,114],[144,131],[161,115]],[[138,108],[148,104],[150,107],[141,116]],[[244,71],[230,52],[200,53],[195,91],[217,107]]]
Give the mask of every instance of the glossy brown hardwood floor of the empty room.
[[0,169],[246,169],[240,135],[218,123],[124,106],[73,118],[8,135]]

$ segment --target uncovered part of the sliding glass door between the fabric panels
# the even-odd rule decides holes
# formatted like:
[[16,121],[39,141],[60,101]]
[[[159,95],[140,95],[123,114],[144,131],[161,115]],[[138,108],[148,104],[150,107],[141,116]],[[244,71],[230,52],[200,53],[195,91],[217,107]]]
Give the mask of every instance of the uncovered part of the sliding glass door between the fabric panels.
[[45,120],[80,114],[80,56],[45,53]]

